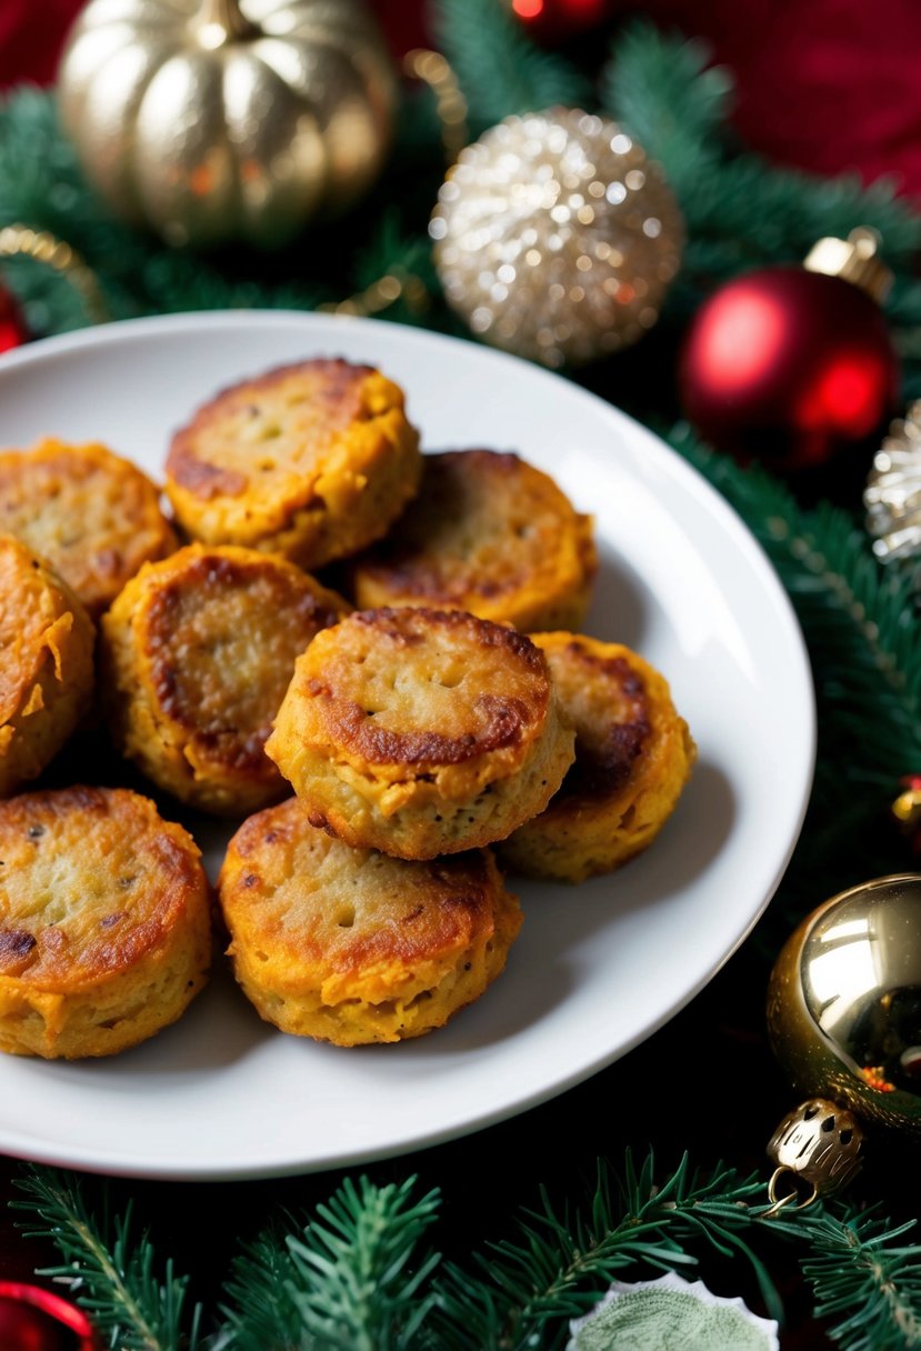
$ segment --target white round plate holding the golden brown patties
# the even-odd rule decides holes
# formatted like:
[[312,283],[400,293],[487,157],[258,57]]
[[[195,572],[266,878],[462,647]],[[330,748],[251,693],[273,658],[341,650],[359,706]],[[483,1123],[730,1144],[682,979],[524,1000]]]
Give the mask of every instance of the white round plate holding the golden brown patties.
[[448,1027],[398,1046],[320,1046],[261,1023],[219,974],[178,1024],[112,1061],[0,1056],[8,1154],[242,1178],[354,1165],[500,1121],[587,1078],[682,1008],[748,934],[795,843],[814,709],[790,604],[722,499],[566,380],[374,320],[177,315],[5,357],[0,443],[97,439],[159,476],[172,431],[197,404],[312,355],[379,365],[405,388],[427,449],[519,450],[594,512],[602,566],[586,630],[667,676],[700,748],[693,780],[652,848],[621,873],[517,888],[525,923],[508,969]]

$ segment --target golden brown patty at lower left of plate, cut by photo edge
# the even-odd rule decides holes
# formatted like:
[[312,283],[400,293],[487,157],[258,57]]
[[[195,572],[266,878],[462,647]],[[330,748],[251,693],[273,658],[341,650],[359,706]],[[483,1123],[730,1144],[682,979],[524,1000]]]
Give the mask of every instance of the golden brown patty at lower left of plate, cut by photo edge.
[[0,1050],[111,1055],[173,1023],[204,986],[199,850],[127,789],[0,802]]

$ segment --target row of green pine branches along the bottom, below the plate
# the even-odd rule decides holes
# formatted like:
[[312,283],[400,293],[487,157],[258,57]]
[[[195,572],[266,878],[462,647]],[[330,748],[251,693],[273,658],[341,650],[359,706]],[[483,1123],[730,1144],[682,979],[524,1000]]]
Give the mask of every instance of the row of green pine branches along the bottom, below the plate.
[[764,1183],[717,1165],[656,1173],[652,1154],[628,1154],[616,1175],[598,1163],[593,1196],[562,1215],[547,1196],[525,1212],[513,1239],[473,1265],[420,1251],[438,1219],[439,1194],[413,1198],[415,1179],[375,1186],[347,1178],[316,1219],[275,1225],[243,1248],[227,1282],[221,1317],[203,1332],[188,1306],[188,1278],[158,1258],[147,1233],[131,1240],[128,1217],[112,1231],[88,1210],[82,1185],[51,1169],[19,1182],[15,1208],[27,1233],[51,1239],[59,1266],[42,1269],[69,1286],[108,1346],[122,1351],[559,1351],[570,1319],[589,1312],[628,1269],[693,1269],[698,1251],[748,1262],[772,1316],[782,1313],[756,1247],[764,1238],[808,1244],[802,1263],[818,1315],[843,1351],[902,1351],[921,1339],[921,1248],[844,1202],[785,1217],[766,1215]]

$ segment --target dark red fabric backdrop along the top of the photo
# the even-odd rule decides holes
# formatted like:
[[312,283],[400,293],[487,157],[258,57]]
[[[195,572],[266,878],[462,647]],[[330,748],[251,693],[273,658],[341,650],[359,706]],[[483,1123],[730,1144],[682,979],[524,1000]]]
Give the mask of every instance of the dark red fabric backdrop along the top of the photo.
[[[504,0],[496,0],[497,4]],[[47,82],[81,0],[0,0],[0,85]],[[394,50],[425,41],[421,0],[373,0]],[[736,126],[768,157],[820,173],[894,174],[921,197],[917,0],[648,0],[735,72]],[[612,0],[612,22],[625,12]]]

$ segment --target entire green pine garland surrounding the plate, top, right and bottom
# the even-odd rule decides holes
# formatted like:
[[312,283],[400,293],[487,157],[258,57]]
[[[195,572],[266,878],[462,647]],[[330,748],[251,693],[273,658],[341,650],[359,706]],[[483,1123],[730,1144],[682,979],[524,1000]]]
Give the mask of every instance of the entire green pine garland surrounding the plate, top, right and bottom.
[[[897,273],[887,305],[903,355],[903,396],[921,394],[921,282],[910,272],[921,216],[891,186],[820,180],[740,151],[727,131],[732,81],[694,42],[646,23],[617,34],[610,59],[590,78],[559,54],[531,45],[494,0],[439,0],[439,45],[460,78],[474,134],[510,112],[554,103],[614,116],[658,158],[687,224],[682,274],[660,320],[681,331],[714,284],[743,269],[797,261],[817,238],[859,224],[883,235]],[[32,89],[0,109],[0,223],[65,238],[97,273],[113,317],[172,311],[316,308],[384,273],[420,276],[431,293],[428,327],[458,331],[438,293],[427,240],[428,211],[443,174],[427,91],[408,95],[392,169],[361,218],[269,258],[239,251],[208,259],[163,249],[113,220],[82,181],[57,128],[54,97]],[[371,223],[370,226],[367,223]],[[330,278],[338,280],[332,290]],[[85,323],[76,293],[28,259],[4,263],[34,332]],[[405,307],[389,317],[421,322]],[[644,408],[637,403],[635,411]],[[806,831],[763,925],[789,924],[804,898],[853,877],[893,870],[880,828],[898,778],[921,769],[921,636],[906,573],[883,571],[852,513],[801,507],[768,474],[741,470],[681,424],[660,428],[735,505],[764,546],[809,642],[820,703],[820,761]],[[822,754],[824,748],[835,754]],[[845,774],[841,765],[851,765]],[[837,766],[835,769],[833,766]],[[777,951],[774,931],[766,942]],[[308,1220],[285,1217],[246,1244],[208,1321],[186,1277],[158,1267],[150,1236],[130,1212],[93,1210],[85,1185],[30,1170],[18,1205],[30,1233],[51,1239],[59,1266],[109,1347],[126,1351],[517,1351],[562,1347],[570,1317],[593,1306],[616,1274],[693,1266],[700,1251],[744,1258],[766,1306],[778,1310],[766,1236],[801,1246],[816,1313],[839,1320],[844,1351],[895,1351],[921,1343],[921,1247],[897,1227],[847,1202],[764,1217],[763,1179],[682,1162],[656,1178],[654,1161],[600,1165],[583,1208],[559,1213],[548,1198],[516,1238],[469,1267],[425,1251],[439,1197],[413,1183],[377,1188],[346,1179]]]

